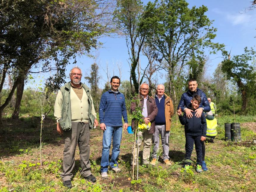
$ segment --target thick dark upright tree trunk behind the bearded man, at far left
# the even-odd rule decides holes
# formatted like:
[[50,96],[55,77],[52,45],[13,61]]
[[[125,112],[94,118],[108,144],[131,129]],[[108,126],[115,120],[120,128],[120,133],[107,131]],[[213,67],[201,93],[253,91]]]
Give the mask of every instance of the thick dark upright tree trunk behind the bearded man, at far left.
[[21,99],[22,99],[23,90],[24,90],[24,81],[25,79],[23,77],[19,80],[17,85],[16,102],[15,102],[15,107],[12,115],[12,119],[15,119],[15,120],[19,119]]

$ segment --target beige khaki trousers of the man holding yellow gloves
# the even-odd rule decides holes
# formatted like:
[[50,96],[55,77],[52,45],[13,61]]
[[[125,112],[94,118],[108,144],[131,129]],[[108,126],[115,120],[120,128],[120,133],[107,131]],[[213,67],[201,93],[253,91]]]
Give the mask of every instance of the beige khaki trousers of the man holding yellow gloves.
[[[137,146],[139,146],[139,148],[140,148],[141,143],[142,143],[142,139],[143,139],[143,143],[144,143],[143,152],[142,152],[143,164],[149,164],[150,146],[151,146],[152,136],[153,136],[153,134],[148,134],[147,129],[139,131],[139,138],[135,142],[136,144],[135,144],[134,163],[136,163],[136,161],[137,161],[137,149],[138,149]],[[131,164],[133,164],[133,153],[134,153],[134,146],[133,146],[133,149],[132,149]]]

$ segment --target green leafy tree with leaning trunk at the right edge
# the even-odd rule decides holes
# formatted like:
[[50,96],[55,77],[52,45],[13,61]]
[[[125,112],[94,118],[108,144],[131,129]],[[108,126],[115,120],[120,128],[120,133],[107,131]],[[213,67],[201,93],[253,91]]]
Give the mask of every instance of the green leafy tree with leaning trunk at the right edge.
[[256,52],[253,48],[244,48],[244,54],[235,55],[233,58],[225,59],[222,62],[222,71],[227,75],[227,79],[236,82],[242,97],[242,112],[246,113],[248,100],[256,95]]

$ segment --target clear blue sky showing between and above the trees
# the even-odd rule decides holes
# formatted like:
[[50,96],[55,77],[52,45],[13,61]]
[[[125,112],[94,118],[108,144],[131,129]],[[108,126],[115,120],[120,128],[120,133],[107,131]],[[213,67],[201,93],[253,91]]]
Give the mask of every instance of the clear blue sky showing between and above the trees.
[[[250,6],[251,0],[189,0],[189,7],[205,5],[208,8],[206,15],[210,20],[214,20],[212,26],[218,29],[217,37],[214,42],[224,43],[226,50],[231,50],[231,56],[236,54],[242,54],[244,47],[253,47],[256,43],[256,10],[244,11],[246,7]],[[143,1],[144,5],[148,1]],[[107,77],[102,70],[106,67],[106,63],[109,64],[111,75],[119,75],[116,63],[121,63],[122,66],[122,79],[129,80],[129,65],[127,60],[129,59],[128,51],[126,47],[125,39],[122,37],[101,38],[100,41],[104,43],[103,48],[93,52],[97,54],[96,62],[101,66],[100,73],[102,75],[100,88],[103,88],[104,83],[107,81]],[[221,53],[215,55],[209,55],[209,63],[207,68],[207,74],[212,76],[218,63],[221,62]],[[90,65],[94,62],[94,59],[83,56],[77,58],[77,65],[82,68],[83,74],[90,70]],[[147,59],[141,56],[141,66],[145,67]],[[67,67],[67,74],[73,65]],[[85,76],[85,75],[83,75]],[[67,78],[67,81],[69,79]],[[85,79],[82,77],[82,82]],[[158,83],[164,83],[165,79],[159,79]]]

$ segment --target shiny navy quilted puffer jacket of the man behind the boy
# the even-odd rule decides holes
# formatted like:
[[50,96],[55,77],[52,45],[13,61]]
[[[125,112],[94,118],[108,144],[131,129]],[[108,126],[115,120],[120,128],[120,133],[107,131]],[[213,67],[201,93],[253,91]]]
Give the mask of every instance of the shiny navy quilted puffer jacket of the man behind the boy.
[[[180,98],[179,105],[178,105],[177,109],[179,109],[179,107],[180,107],[183,112],[184,108],[188,107],[191,104],[193,94],[194,93],[191,92],[190,90],[183,93]],[[205,108],[204,112],[209,112],[211,110],[211,107],[210,107],[210,104],[207,100],[205,93],[201,89],[196,88],[196,95],[199,95],[201,97],[201,103],[199,104],[199,107],[204,107]]]

